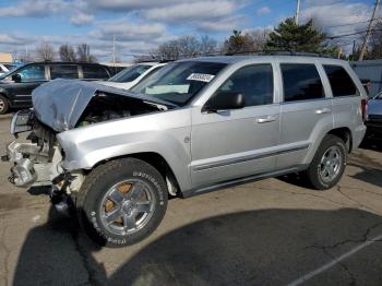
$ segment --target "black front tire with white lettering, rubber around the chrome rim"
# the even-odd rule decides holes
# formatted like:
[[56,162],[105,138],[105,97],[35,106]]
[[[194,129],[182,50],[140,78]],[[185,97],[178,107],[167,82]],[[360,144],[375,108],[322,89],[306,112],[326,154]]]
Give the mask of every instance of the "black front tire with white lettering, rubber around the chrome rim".
[[[153,202],[151,204],[152,211],[147,214],[150,218],[147,218],[146,224],[140,229],[134,230],[133,228],[135,233],[122,235],[116,234],[110,230],[110,227],[108,228],[108,226],[105,226],[107,225],[105,223],[105,217],[108,213],[106,211],[103,213],[106,206],[105,208],[102,207],[105,205],[103,203],[105,202],[105,198],[109,200],[108,196],[106,196],[108,190],[110,190],[110,188],[112,189],[112,186],[116,186],[116,183],[126,180],[133,180],[140,183],[141,189],[142,186],[145,186],[143,188],[145,190],[150,189],[152,192],[151,200]],[[119,188],[120,187],[116,187],[115,190],[119,191]],[[123,195],[128,195],[129,191]],[[116,193],[116,191],[112,192]],[[96,167],[86,177],[76,198],[77,216],[81,226],[94,241],[107,247],[123,247],[143,240],[158,227],[166,213],[167,200],[166,182],[153,166],[136,158],[122,158]],[[123,202],[116,203],[116,205],[121,205],[120,210],[124,210],[122,207],[122,205],[124,205]],[[136,205],[138,204],[135,204],[135,206]],[[122,222],[122,218],[119,219]],[[115,224],[118,223],[111,223],[111,225]],[[124,221],[121,224],[124,224]],[[118,226],[116,227],[118,228]]]

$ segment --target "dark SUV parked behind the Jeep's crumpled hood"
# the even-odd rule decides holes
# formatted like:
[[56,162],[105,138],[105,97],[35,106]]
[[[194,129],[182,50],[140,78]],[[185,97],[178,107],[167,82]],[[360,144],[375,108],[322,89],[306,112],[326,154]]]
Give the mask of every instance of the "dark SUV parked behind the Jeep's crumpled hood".
[[10,108],[32,106],[32,91],[55,79],[99,81],[110,78],[107,67],[98,63],[33,62],[0,76],[0,115]]

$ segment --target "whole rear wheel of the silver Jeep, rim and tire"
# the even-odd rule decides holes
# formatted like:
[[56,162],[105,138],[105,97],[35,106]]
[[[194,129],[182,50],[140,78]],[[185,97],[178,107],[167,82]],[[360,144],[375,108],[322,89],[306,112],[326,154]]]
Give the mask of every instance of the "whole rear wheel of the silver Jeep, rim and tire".
[[326,135],[312,163],[307,170],[307,177],[318,190],[334,187],[342,178],[347,160],[347,148],[342,139]]

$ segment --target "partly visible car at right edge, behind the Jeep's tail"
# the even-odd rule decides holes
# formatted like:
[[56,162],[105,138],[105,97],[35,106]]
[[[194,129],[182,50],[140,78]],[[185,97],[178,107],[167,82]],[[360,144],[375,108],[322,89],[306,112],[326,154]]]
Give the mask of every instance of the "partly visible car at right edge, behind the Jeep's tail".
[[368,117],[366,121],[368,140],[382,140],[382,92],[368,102]]

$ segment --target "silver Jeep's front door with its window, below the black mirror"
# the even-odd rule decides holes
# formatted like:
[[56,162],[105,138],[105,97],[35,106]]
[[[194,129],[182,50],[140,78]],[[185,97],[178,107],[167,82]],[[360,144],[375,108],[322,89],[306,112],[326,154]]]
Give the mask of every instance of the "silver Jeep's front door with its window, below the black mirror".
[[194,188],[244,178],[275,168],[279,104],[271,63],[238,69],[215,92],[242,93],[244,108],[192,111],[191,180]]

